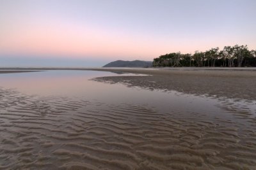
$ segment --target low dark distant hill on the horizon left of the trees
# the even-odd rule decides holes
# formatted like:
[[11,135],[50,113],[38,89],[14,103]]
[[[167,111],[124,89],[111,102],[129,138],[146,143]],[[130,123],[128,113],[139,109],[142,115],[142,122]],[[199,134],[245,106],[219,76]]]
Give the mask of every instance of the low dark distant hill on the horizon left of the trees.
[[152,67],[152,61],[144,61],[144,60],[116,60],[113,62],[109,62],[103,67]]

